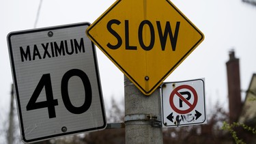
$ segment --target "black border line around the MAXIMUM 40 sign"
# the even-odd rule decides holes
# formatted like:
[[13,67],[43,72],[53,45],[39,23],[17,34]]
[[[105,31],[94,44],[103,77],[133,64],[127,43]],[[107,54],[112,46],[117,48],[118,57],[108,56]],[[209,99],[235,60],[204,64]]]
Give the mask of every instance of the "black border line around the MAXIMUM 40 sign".
[[[30,30],[26,30],[26,31],[14,31],[8,34],[7,39],[8,39],[8,48],[9,48],[9,54],[10,54],[10,63],[11,63],[11,67],[12,67],[12,76],[13,76],[13,81],[14,81],[14,87],[15,87],[15,91],[16,91],[16,103],[18,105],[18,115],[19,115],[19,121],[20,121],[20,131],[21,131],[21,136],[22,136],[22,140],[25,141],[26,143],[31,143],[31,142],[35,142],[35,141],[42,141],[42,140],[46,140],[46,139],[53,139],[55,137],[59,137],[59,136],[65,136],[65,135],[70,135],[70,134],[78,134],[81,132],[88,132],[88,131],[94,131],[94,130],[100,130],[100,129],[104,129],[106,128],[106,115],[105,115],[105,111],[104,111],[104,102],[103,102],[103,97],[102,97],[102,87],[100,84],[100,74],[99,74],[99,70],[98,70],[98,61],[97,61],[97,55],[96,55],[96,48],[93,42],[91,42],[91,48],[92,48],[92,52],[94,54],[94,66],[95,66],[95,70],[96,70],[96,76],[97,76],[97,84],[98,84],[98,93],[100,96],[100,106],[101,106],[101,111],[102,111],[102,118],[103,118],[103,125],[100,127],[96,127],[96,128],[88,128],[85,130],[76,130],[76,131],[72,131],[72,132],[63,132],[62,134],[54,134],[51,136],[44,136],[44,137],[40,137],[37,139],[29,139],[27,140],[25,137],[25,129],[23,126],[23,115],[21,113],[21,106],[20,106],[20,98],[19,98],[19,93],[18,93],[18,85],[17,85],[17,79],[16,79],[16,70],[15,70],[15,66],[14,66],[14,56],[12,53],[12,40],[11,37],[13,35],[21,35],[21,34],[25,34],[25,33],[36,33],[36,32],[41,32],[41,31],[51,31],[51,30],[56,30],[56,29],[66,29],[66,28],[71,28],[71,27],[81,27],[81,26],[88,26],[89,27],[90,23],[76,23],[76,24],[70,24],[70,25],[61,25],[61,26],[56,26],[56,27],[45,27],[45,28],[40,28],[40,29],[30,29]],[[86,36],[86,35],[85,35]]]

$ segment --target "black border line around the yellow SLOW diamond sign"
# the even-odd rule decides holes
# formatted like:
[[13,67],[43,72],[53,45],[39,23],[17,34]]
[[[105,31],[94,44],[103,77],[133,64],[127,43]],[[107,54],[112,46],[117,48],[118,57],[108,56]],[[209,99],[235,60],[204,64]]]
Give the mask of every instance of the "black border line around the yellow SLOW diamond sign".
[[89,27],[89,29],[87,29],[86,33],[87,35],[92,39],[94,40],[94,42],[97,44],[97,46],[100,47],[100,49],[102,51],[104,51],[104,53],[107,55],[107,57],[109,57],[111,59],[111,61],[113,61],[113,63],[115,63],[115,65],[122,70],[122,72],[124,72],[124,74],[126,74],[126,76],[128,76],[128,78],[131,79],[132,82],[136,83],[136,85],[138,87],[140,87],[140,89],[143,90],[144,93],[146,94],[150,94],[153,92],[154,89],[156,89],[161,83],[162,81],[165,81],[165,78],[167,78],[167,76],[169,76],[169,74],[171,74],[171,72],[173,70],[175,70],[175,68],[177,68],[178,65],[180,65],[180,63],[197,47],[197,45],[203,40],[204,36],[203,36],[203,33],[201,33],[201,31],[199,31],[199,29],[197,29],[195,27],[195,25],[193,25],[193,23],[190,22],[190,20],[188,20],[188,18],[186,18],[186,16],[184,16],[184,14],[182,14],[182,12],[180,12],[180,10],[177,10],[177,8],[175,7],[175,5],[173,5],[173,3],[171,3],[171,1],[169,0],[165,0],[167,1],[167,3],[169,3],[169,5],[171,5],[171,7],[177,12],[180,14],[180,16],[182,16],[182,18],[184,18],[184,20],[186,20],[200,35],[201,35],[201,38],[195,43],[195,45],[190,48],[188,50],[188,52],[179,60],[177,61],[177,63],[175,63],[175,65],[167,72],[167,74],[165,74],[164,76],[162,76],[162,78],[160,78],[160,80],[156,83],[156,85],[154,85],[152,87],[152,89],[150,89],[149,91],[145,91],[145,89],[143,89],[143,87],[141,87],[141,85],[139,85],[139,83],[137,83],[137,81],[135,81],[134,78],[132,78],[132,76],[130,76],[130,74],[128,72],[126,72],[126,70],[119,65],[119,63],[117,63],[117,61],[115,61],[115,59],[113,59],[113,57],[111,57],[111,55],[109,53],[107,53],[107,51],[103,48],[103,46],[101,46],[95,39],[92,35],[89,34],[89,31],[94,27],[96,26],[100,20],[102,20],[102,18],[104,18],[104,16],[106,16],[107,14],[109,14],[109,12],[111,12],[111,10],[113,10],[113,8],[115,8],[115,6],[122,0],[118,0],[114,3],[114,5],[111,6],[111,8],[109,8],[108,11],[104,12],[104,14],[102,16],[100,16],[100,18],[98,18],[98,20],[96,20],[96,22],[93,23],[93,25],[91,25],[91,27]]

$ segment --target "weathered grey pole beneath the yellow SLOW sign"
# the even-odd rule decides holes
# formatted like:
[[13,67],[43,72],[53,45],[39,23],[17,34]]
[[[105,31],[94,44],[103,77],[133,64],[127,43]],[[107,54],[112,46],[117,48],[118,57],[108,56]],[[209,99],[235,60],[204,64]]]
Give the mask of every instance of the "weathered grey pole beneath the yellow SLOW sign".
[[162,144],[160,90],[145,96],[124,76],[126,144]]

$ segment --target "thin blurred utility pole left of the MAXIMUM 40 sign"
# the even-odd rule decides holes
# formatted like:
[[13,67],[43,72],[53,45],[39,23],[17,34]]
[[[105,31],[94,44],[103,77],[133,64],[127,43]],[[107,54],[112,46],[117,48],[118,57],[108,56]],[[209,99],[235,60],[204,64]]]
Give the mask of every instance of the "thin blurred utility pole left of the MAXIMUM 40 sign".
[[12,84],[11,102],[9,113],[8,144],[14,141],[14,85]]

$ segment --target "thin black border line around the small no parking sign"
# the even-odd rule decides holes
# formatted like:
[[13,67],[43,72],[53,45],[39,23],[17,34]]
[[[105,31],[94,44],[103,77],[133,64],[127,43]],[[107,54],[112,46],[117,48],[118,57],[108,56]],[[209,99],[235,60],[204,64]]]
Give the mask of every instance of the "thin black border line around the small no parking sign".
[[[192,126],[192,125],[197,125],[197,124],[203,124],[207,119],[206,119],[206,109],[205,109],[205,82],[203,80],[203,78],[198,78],[198,79],[193,79],[193,80],[188,80],[188,81],[176,81],[176,82],[166,82],[166,83],[162,83],[162,85],[160,85],[160,94],[161,94],[161,102],[162,102],[162,126],[165,126],[165,122],[164,122],[164,106],[163,106],[163,93],[162,93],[162,87],[164,87],[163,85],[165,84],[169,84],[169,83],[185,83],[185,82],[190,82],[190,81],[202,81],[203,82],[203,106],[204,106],[204,121],[202,122],[198,122],[198,123],[193,123],[193,124],[180,124],[179,126]],[[198,96],[199,97],[199,96]],[[199,98],[198,98],[199,99]],[[168,127],[175,127],[177,125],[169,125],[169,126],[165,126],[166,128]]]

